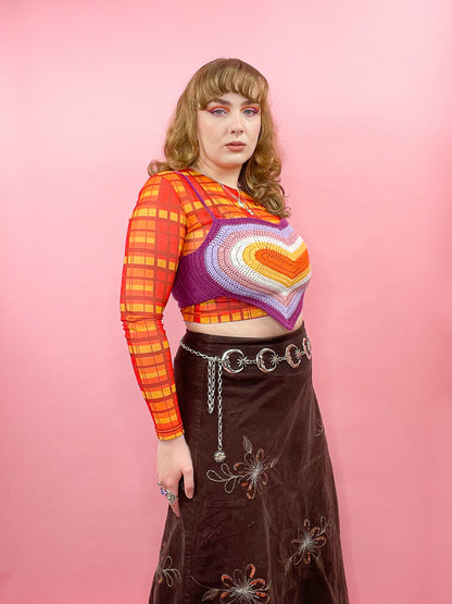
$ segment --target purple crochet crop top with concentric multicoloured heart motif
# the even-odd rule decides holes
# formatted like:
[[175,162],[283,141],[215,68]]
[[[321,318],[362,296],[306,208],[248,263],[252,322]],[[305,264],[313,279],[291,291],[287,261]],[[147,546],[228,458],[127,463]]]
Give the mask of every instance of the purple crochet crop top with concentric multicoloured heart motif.
[[218,219],[190,180],[180,174],[212,217],[201,246],[183,256],[173,296],[184,308],[222,296],[258,306],[293,329],[311,278],[306,246],[286,219]]

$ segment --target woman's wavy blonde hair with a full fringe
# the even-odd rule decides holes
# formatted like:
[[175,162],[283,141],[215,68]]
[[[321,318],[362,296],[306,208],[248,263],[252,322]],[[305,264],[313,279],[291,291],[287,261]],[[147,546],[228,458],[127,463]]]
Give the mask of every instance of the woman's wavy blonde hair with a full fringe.
[[227,93],[237,93],[261,106],[258,145],[242,165],[239,186],[271,213],[287,217],[289,211],[279,182],[281,160],[267,100],[268,83],[256,69],[240,59],[215,59],[196,72],[177,101],[166,132],[165,161],[151,161],[148,172],[152,176],[158,172],[194,165],[199,153],[197,112]]

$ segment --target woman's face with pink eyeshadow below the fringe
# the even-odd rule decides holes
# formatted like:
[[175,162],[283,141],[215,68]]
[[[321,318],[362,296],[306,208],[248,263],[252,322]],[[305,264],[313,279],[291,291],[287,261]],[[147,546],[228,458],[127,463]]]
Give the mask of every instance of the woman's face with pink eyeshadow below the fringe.
[[261,107],[237,93],[212,99],[198,111],[197,165],[211,176],[240,172],[253,155],[261,131]]

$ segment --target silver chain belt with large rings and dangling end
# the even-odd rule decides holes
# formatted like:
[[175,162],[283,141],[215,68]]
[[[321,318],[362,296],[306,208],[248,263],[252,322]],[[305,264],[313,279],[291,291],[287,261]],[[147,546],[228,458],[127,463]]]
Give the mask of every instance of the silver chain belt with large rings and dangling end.
[[218,448],[213,456],[218,464],[226,459],[226,453],[223,451],[223,370],[227,373],[240,373],[246,367],[255,365],[263,373],[271,373],[280,362],[287,362],[296,369],[303,357],[311,359],[312,356],[311,342],[307,337],[303,337],[301,348],[296,344],[288,344],[284,356],[279,356],[272,348],[261,348],[253,359],[249,359],[240,348],[229,348],[221,357],[211,357],[205,353],[193,350],[183,341],[180,346],[208,361],[208,410],[213,414],[215,409],[215,391],[218,407]]

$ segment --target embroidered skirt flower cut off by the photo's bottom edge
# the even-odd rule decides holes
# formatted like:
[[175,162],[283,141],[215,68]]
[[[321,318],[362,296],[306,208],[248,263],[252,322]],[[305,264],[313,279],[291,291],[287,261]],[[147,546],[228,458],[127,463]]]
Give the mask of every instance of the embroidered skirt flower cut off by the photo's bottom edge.
[[244,572],[237,569],[233,577],[222,575],[224,588],[210,589],[202,596],[202,602],[216,600],[219,596],[222,604],[264,604],[268,602],[268,587],[264,579],[254,579],[255,566],[249,564]]

